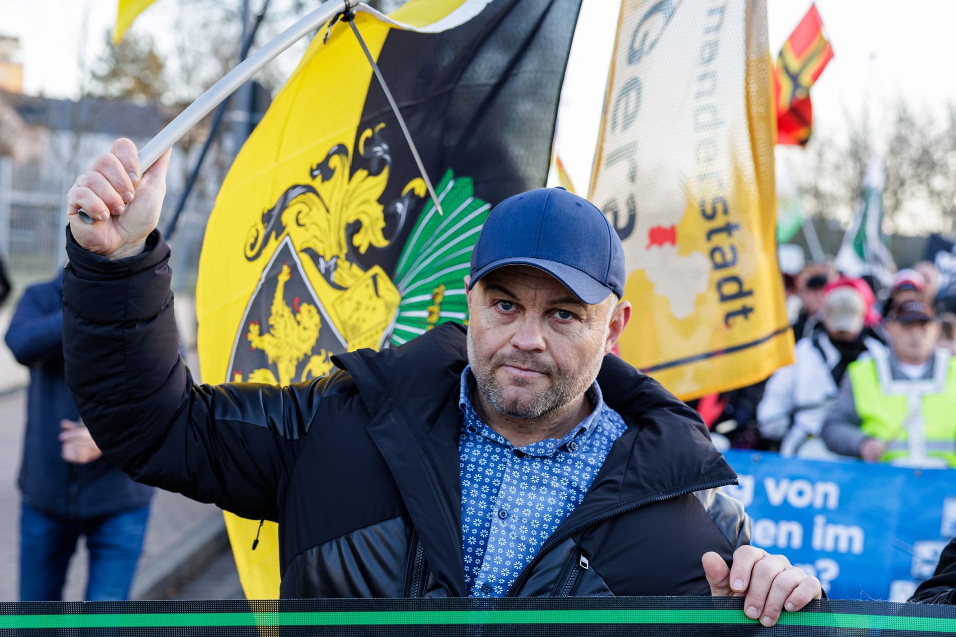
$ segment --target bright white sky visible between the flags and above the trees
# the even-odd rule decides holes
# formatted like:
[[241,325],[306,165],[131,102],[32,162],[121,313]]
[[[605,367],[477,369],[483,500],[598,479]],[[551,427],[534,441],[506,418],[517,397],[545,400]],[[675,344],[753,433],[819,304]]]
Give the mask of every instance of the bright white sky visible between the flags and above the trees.
[[[252,6],[255,9],[258,3],[253,0]],[[581,44],[568,70],[564,110],[570,109],[576,122],[585,124],[576,125],[574,131],[574,147],[580,151],[565,162],[581,191],[586,189],[594,153],[617,6],[613,0],[584,0],[578,24]],[[870,104],[879,125],[883,107],[900,98],[931,108],[956,101],[956,83],[949,78],[947,64],[956,2],[818,0],[816,6],[835,51],[835,59],[813,89],[818,130],[838,130],[844,112],[858,112],[864,103]],[[809,7],[810,2],[803,0],[768,0],[774,56]],[[171,16],[178,10],[177,0],[156,0],[141,15],[137,28],[153,33],[161,50],[171,47]],[[76,96],[77,56],[95,59],[101,53],[102,33],[113,24],[115,11],[116,0],[0,0],[0,33],[21,40],[26,91]],[[291,70],[294,59],[280,64]]]

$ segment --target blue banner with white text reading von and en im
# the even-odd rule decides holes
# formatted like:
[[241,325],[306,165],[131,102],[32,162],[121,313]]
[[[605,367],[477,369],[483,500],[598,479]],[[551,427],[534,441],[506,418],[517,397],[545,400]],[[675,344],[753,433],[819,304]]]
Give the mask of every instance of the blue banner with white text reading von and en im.
[[956,536],[956,471],[724,454],[750,543],[786,555],[831,598],[905,601]]

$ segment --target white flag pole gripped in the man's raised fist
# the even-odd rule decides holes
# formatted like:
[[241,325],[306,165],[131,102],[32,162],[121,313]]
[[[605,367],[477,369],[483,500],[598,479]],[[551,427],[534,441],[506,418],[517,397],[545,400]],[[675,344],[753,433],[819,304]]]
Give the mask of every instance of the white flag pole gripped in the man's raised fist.
[[[321,27],[341,11],[347,11],[355,0],[328,0],[315,11],[308,13],[293,26],[279,33],[272,40],[250,54],[245,60],[236,65],[222,79],[213,84],[196,101],[189,104],[185,111],[166,124],[166,127],[140,149],[140,166],[146,171],[163,156],[166,149],[180,140],[203,117],[216,108],[224,99],[232,95],[236,89],[245,84],[259,69],[266,66],[279,54],[293,46],[301,38]],[[93,223],[93,218],[85,210],[79,211],[79,218],[85,223]]]

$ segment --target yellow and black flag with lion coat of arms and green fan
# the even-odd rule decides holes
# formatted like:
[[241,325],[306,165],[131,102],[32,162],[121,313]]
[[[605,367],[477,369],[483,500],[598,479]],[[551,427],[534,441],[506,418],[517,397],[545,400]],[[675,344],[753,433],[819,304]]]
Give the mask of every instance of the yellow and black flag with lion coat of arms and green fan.
[[[467,321],[463,277],[491,207],[545,184],[580,0],[413,0],[355,20],[443,213],[350,27],[315,37],[243,147],[196,290],[208,382],[288,384],[330,356]],[[316,485],[321,488],[321,485]],[[227,514],[250,598],[278,594],[278,534]]]

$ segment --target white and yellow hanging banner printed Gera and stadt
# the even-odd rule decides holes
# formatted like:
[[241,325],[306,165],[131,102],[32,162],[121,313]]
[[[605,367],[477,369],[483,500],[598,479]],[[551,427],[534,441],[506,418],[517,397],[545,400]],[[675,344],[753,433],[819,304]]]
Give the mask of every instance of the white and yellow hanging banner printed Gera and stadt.
[[624,0],[590,199],[624,245],[621,355],[684,399],[793,360],[764,0]]

